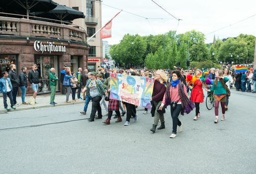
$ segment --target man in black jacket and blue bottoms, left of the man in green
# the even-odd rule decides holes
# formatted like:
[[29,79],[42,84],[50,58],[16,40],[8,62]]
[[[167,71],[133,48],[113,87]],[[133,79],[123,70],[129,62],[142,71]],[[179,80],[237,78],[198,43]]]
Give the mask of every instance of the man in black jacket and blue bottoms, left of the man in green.
[[[28,81],[31,84],[31,87],[34,91],[34,93],[33,93],[34,99],[36,99],[36,94],[37,94],[39,83],[40,83],[39,73],[38,73],[38,71],[36,71],[36,69],[37,69],[37,65],[33,64],[32,70],[28,73]],[[37,102],[35,101],[35,103],[37,103]]]

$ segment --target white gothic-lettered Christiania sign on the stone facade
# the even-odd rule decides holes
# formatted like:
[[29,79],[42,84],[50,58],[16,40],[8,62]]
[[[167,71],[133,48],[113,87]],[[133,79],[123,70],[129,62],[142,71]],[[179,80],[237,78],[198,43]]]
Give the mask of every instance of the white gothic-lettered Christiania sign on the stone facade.
[[63,45],[63,43],[54,43],[54,42],[45,42],[42,41],[35,41],[34,42],[34,49],[35,51],[41,51],[43,52],[66,52],[66,46]]

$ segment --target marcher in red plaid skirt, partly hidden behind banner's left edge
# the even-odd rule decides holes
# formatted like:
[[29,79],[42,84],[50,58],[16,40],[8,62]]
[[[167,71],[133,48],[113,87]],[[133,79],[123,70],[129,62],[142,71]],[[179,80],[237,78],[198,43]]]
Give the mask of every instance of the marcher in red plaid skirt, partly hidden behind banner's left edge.
[[[117,70],[113,69],[112,73],[117,74],[118,72],[117,72]],[[104,85],[106,85],[108,92],[110,92],[111,91],[111,88],[110,88],[110,78],[108,78],[105,81]],[[108,95],[107,91],[106,91],[105,94]],[[119,106],[120,106],[120,101],[119,100],[115,100],[115,99],[111,99],[111,98],[109,99],[108,118],[103,122],[104,124],[110,124],[110,120],[111,120],[113,111],[115,111],[117,116],[118,116],[118,119],[116,120],[116,123],[123,121],[122,117],[121,117],[121,113],[119,111]]]

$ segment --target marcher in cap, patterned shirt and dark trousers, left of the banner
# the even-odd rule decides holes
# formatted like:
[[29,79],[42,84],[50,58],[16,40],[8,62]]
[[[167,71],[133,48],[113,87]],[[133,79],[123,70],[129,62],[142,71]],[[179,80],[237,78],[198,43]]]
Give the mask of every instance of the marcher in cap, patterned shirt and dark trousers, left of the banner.
[[[100,101],[105,93],[105,89],[103,88],[101,81],[96,79],[96,76],[96,72],[91,72],[91,79],[88,80],[85,87],[87,95],[92,99],[92,111],[88,122],[92,122],[94,119],[102,119]],[[96,112],[98,112],[97,118],[95,118]]]

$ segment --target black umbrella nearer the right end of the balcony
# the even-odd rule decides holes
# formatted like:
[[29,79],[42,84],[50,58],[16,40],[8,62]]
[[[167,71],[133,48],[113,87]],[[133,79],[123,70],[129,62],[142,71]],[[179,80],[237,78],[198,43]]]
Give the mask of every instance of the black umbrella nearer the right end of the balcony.
[[85,15],[82,11],[78,11],[64,5],[57,5],[56,8],[48,12],[34,12],[34,15],[61,21],[72,21],[77,18],[85,18]]

